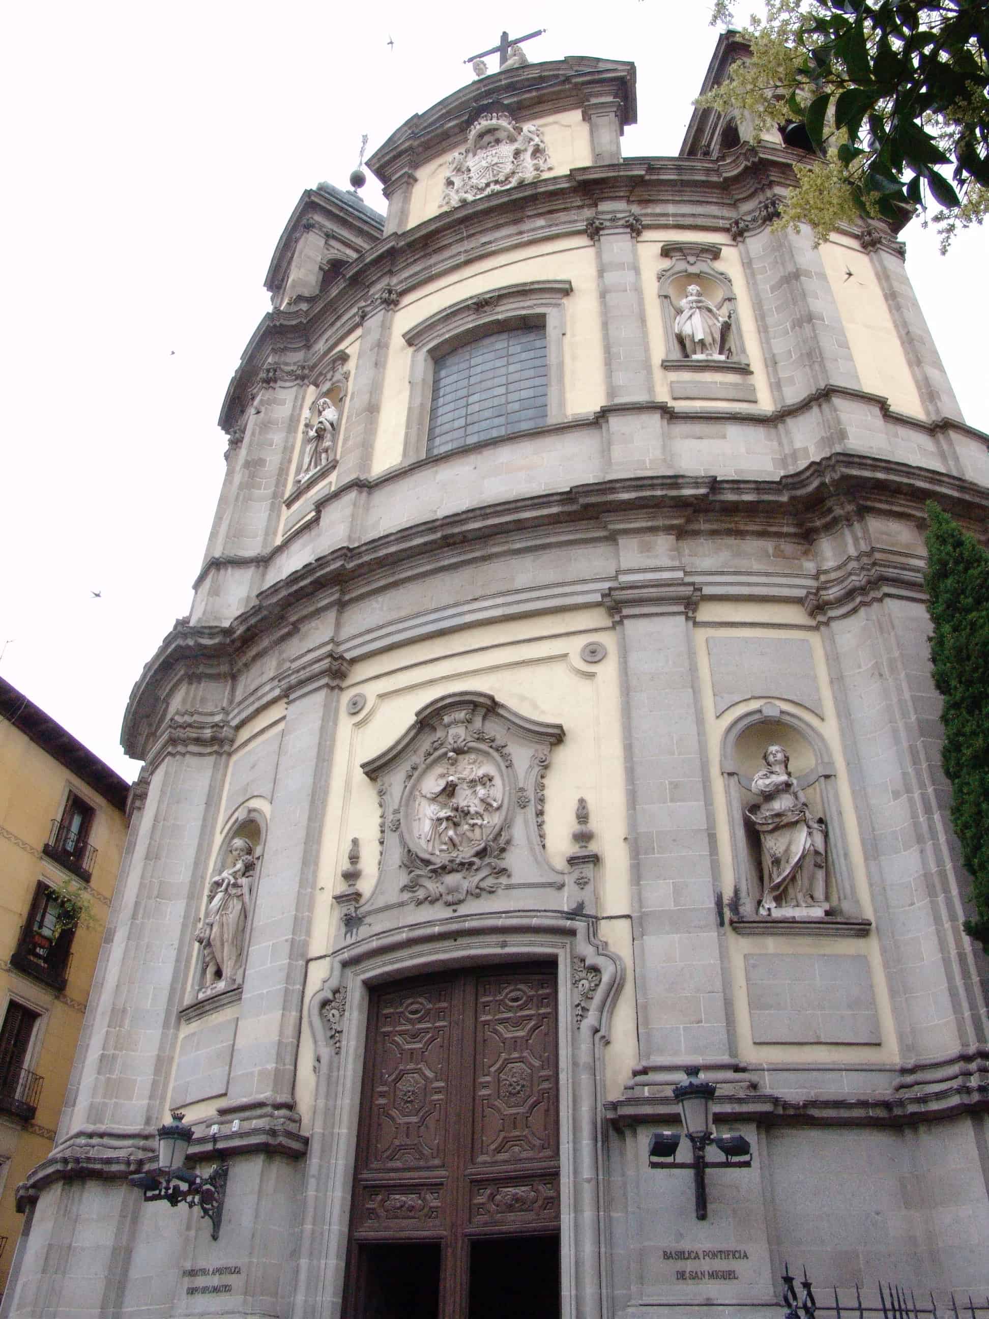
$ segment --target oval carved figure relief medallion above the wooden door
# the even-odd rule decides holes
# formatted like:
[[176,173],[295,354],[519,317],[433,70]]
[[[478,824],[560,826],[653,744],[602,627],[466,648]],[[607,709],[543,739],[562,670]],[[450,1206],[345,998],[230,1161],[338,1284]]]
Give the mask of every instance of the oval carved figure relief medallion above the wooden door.
[[423,852],[450,857],[487,842],[498,822],[504,783],[494,761],[454,749],[415,789],[413,834]]

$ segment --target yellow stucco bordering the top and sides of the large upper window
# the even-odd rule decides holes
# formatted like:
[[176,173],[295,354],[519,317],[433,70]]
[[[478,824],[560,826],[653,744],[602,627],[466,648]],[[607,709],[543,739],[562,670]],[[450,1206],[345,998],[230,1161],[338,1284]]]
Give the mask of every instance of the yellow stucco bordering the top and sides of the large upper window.
[[409,369],[413,350],[402,339],[406,330],[462,298],[526,280],[570,280],[574,291],[563,299],[567,332],[563,336],[563,413],[595,412],[607,400],[601,313],[595,247],[585,237],[547,239],[471,261],[404,301],[392,323],[381,414],[372,475],[402,460],[409,412]]

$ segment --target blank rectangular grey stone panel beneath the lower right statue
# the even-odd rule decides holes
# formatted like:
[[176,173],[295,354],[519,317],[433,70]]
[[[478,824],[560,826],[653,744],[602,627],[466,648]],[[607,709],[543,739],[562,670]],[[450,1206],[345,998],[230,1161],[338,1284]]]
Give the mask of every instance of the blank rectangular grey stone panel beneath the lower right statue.
[[869,959],[843,954],[745,955],[757,1045],[878,1045]]

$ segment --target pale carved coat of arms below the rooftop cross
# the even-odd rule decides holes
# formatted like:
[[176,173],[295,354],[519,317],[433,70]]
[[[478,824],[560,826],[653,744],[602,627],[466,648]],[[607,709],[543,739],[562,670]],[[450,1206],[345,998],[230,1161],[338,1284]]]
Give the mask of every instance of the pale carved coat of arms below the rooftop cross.
[[504,112],[479,115],[467,146],[447,162],[440,210],[529,183],[551,169],[546,140],[535,124],[520,128]]

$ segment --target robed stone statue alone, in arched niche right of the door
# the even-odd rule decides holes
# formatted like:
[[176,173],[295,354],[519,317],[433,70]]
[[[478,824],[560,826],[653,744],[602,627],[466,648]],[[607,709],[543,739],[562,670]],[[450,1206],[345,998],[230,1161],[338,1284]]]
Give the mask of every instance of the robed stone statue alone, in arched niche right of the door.
[[745,811],[760,835],[760,915],[823,917],[828,911],[824,820],[814,818],[783,747],[766,747],[762,760],[766,768],[752,780],[762,801]]

